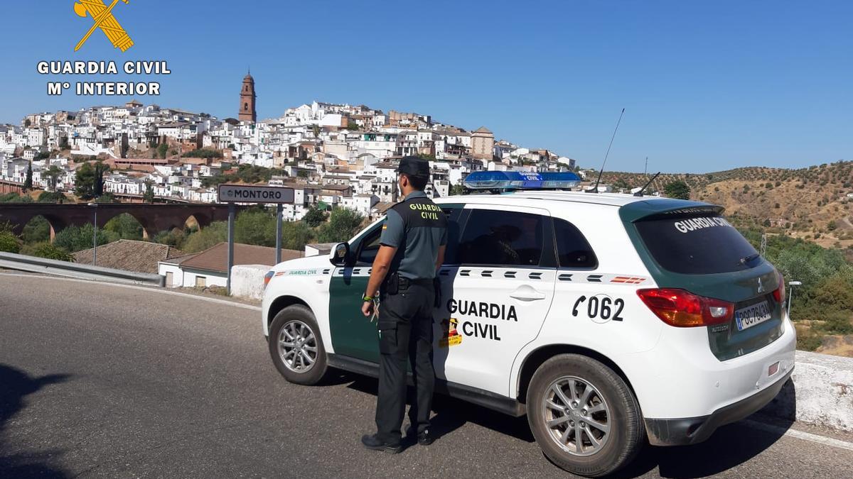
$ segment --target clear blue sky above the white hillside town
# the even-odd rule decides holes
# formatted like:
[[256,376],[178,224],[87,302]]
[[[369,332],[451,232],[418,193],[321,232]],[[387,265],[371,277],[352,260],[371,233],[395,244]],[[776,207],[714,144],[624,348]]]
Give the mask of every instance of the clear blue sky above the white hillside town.
[[49,97],[40,60],[165,60],[162,95],[140,100],[220,118],[251,66],[260,118],[365,103],[597,167],[625,107],[607,170],[853,159],[849,1],[131,0],[116,6],[125,54],[101,32],[75,54],[91,20],[72,5],[4,6],[0,122],[126,100]]

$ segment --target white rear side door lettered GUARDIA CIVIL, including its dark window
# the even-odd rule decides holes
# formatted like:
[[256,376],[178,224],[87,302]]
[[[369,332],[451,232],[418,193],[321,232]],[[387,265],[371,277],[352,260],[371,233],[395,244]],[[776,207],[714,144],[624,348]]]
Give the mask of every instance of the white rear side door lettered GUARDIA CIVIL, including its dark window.
[[456,264],[439,272],[435,369],[439,378],[506,395],[515,355],[537,337],[554,299],[553,223],[538,208],[465,208]]

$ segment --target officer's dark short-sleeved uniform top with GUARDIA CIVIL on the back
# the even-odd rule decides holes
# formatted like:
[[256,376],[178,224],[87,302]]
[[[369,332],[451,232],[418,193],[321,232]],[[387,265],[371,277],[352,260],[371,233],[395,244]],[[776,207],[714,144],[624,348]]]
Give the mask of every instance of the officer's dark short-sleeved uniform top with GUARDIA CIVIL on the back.
[[380,243],[397,248],[391,272],[409,280],[432,280],[438,247],[447,245],[447,217],[426,193],[414,191],[388,210]]

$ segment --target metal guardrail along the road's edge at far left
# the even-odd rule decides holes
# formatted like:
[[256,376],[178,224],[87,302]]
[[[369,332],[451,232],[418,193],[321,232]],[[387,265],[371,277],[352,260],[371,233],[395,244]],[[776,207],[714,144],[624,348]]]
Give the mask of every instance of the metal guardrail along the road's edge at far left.
[[160,274],[136,273],[134,271],[125,271],[124,269],[102,268],[100,266],[68,263],[41,257],[28,257],[14,253],[0,252],[0,268],[15,269],[30,273],[54,274],[56,276],[67,276],[81,280],[106,281],[128,285],[165,286],[165,277]]

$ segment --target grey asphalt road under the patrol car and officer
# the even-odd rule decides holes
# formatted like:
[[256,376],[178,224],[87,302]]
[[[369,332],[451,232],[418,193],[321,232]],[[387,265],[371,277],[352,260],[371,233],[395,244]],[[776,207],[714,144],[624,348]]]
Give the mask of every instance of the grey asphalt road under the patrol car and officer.
[[[287,384],[258,315],[0,274],[0,477],[569,476],[525,418],[450,398],[436,401],[432,446],[364,450],[375,380]],[[623,476],[853,477],[853,451],[739,423],[698,446],[647,447]]]

